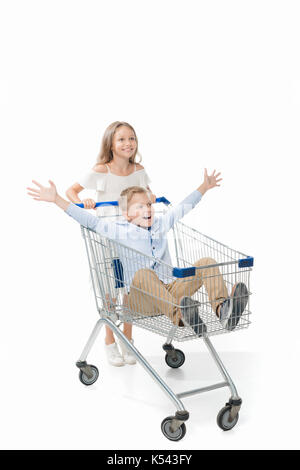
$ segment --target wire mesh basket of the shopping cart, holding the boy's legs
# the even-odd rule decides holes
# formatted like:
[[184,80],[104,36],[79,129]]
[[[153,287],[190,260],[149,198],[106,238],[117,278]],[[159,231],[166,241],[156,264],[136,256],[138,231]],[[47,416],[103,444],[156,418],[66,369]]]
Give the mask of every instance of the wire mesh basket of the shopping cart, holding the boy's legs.
[[[84,227],[81,230],[101,315],[175,341],[249,326],[251,267],[238,266],[238,260],[246,257],[243,253],[179,222],[168,235],[172,261],[179,268],[194,265],[195,274],[178,279],[173,266]],[[246,287],[247,296],[236,294],[237,285]],[[219,306],[235,295],[235,302],[245,306],[235,327],[228,328],[217,313]],[[189,298],[188,305],[182,303],[184,297]]]

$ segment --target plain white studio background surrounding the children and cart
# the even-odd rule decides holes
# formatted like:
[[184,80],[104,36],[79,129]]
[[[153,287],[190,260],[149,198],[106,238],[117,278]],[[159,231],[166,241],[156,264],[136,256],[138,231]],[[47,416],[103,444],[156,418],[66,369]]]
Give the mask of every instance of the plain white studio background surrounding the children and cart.
[[[296,1],[1,1],[1,448],[298,448],[300,124]],[[140,366],[107,365],[90,388],[75,361],[97,319],[79,227],[26,195],[63,194],[91,168],[112,121],[136,129],[157,195],[179,202],[223,184],[186,222],[254,256],[251,328],[213,338],[243,398],[215,423],[225,389],[186,399],[187,435],[167,441],[174,405]],[[219,381],[202,342],[167,370],[162,338],[135,342],[175,391]]]

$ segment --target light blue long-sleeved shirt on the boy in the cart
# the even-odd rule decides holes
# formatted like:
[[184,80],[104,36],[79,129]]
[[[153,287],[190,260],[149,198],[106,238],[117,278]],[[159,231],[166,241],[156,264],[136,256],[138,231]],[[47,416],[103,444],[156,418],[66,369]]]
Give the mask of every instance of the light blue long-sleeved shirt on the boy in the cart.
[[[115,246],[123,265],[124,283],[129,289],[133,276],[139,269],[153,269],[166,284],[172,281],[172,261],[167,233],[200,202],[201,198],[202,194],[198,190],[193,191],[166,214],[154,216],[154,222],[148,230],[129,223],[123,217],[116,221],[105,221],[74,204],[68,206],[66,213],[80,225],[120,243]],[[132,248],[139,253],[130,250]]]

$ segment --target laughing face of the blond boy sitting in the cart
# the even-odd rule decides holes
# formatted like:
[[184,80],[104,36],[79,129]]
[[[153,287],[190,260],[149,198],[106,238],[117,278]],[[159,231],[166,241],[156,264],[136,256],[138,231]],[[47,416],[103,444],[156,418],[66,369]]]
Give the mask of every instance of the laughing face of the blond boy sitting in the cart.
[[128,204],[124,217],[132,224],[143,228],[151,227],[154,219],[154,208],[147,193],[136,193]]

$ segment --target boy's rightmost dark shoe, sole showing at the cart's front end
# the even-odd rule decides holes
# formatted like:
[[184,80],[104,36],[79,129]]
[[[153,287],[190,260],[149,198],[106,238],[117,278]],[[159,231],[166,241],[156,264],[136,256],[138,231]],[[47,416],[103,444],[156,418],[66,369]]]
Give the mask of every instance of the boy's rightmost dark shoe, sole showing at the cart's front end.
[[223,327],[232,331],[237,326],[249,299],[248,289],[243,282],[238,282],[232,288],[231,296],[224,300],[219,307],[219,320]]

